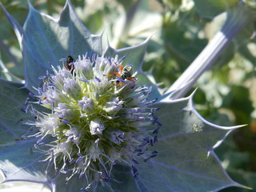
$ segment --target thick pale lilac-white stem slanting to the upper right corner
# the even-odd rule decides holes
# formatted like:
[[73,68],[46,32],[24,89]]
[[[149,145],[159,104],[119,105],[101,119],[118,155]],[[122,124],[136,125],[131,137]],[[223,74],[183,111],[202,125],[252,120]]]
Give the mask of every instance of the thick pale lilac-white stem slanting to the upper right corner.
[[222,30],[214,35],[214,38],[212,38],[205,49],[202,50],[201,54],[195,58],[194,62],[190,64],[184,73],[166,91],[166,94],[170,94],[178,90],[175,94],[171,94],[169,99],[182,98],[191,89],[202,73],[210,69],[234,36],[246,26],[246,23],[250,22],[250,18],[253,18],[252,16],[252,11],[241,5],[227,10],[226,22],[224,26],[222,26]]

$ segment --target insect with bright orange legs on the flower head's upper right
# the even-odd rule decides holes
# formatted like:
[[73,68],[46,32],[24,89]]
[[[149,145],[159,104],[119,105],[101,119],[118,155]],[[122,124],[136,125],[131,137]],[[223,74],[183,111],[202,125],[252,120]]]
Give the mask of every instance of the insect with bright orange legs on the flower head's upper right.
[[122,83],[126,79],[128,81],[133,81],[133,82],[136,81],[136,79],[134,77],[132,77],[132,74],[134,74],[134,70],[131,66],[118,65],[118,67],[119,67],[119,73],[114,72],[113,74],[104,74],[104,76],[112,76],[112,75],[118,76],[116,86],[122,86]]

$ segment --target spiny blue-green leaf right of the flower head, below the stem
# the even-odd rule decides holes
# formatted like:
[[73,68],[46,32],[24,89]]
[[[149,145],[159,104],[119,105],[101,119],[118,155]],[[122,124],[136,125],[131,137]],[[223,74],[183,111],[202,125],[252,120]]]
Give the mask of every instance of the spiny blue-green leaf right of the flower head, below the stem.
[[194,109],[192,95],[156,103],[162,127],[154,150],[158,156],[138,166],[140,191],[218,191],[241,186],[226,174],[213,149],[237,127],[206,122]]

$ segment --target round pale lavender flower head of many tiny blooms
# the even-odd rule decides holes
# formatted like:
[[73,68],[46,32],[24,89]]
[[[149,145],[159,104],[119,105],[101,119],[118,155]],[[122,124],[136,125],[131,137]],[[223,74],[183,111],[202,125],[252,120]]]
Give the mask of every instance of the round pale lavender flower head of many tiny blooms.
[[40,77],[35,95],[49,112],[26,107],[35,119],[27,124],[37,130],[30,137],[38,138],[35,146],[46,154],[42,161],[66,174],[66,181],[77,174],[86,178],[84,190],[94,182],[113,181],[110,172],[117,162],[129,165],[137,177],[139,159],[157,155],[147,148],[157,142],[158,109],[150,108],[155,100],[148,101],[150,87],[138,86],[123,59],[95,54],[67,64],[61,59],[63,66],[52,67],[54,74]]

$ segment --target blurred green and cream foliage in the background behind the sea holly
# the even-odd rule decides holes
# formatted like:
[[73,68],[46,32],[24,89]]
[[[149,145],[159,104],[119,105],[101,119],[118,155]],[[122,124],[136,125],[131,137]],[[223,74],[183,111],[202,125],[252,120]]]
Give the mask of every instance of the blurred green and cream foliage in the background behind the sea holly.
[[[28,14],[26,0],[1,2],[23,25]],[[54,18],[65,4],[65,0],[30,2],[37,10]],[[192,0],[71,2],[85,26],[93,34],[104,31],[103,39],[108,38],[114,48],[136,45],[153,34],[143,67],[154,74],[156,82],[162,83],[162,90],[186,70],[225,21],[225,14],[201,18]],[[2,10],[0,20],[0,58],[11,73],[22,78],[22,54]],[[255,38],[250,38],[253,33],[254,25],[250,23],[223,51],[213,68],[202,75],[194,86],[198,87],[194,102],[200,114],[210,122],[223,126],[247,124],[236,130],[216,152],[235,181],[256,189],[256,44]],[[3,73],[0,77],[6,78]]]

